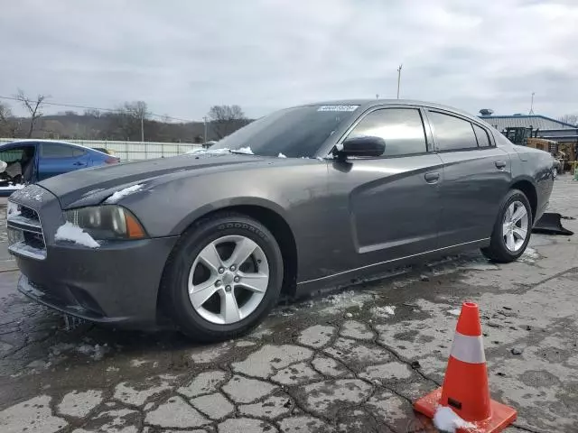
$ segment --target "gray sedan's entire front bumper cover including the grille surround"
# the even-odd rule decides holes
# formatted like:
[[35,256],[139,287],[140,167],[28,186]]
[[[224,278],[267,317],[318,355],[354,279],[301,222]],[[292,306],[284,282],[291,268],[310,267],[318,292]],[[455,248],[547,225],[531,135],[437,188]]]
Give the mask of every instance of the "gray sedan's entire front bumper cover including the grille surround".
[[23,274],[18,290],[78,318],[154,327],[164,265],[178,237],[107,241],[94,249],[55,241],[54,234],[64,223],[60,203],[47,190],[33,187],[10,198],[33,212],[27,212],[23,224],[21,217],[9,217],[8,226],[35,231],[30,232],[35,237],[27,235],[25,242],[37,247],[34,254],[29,244],[10,250]]

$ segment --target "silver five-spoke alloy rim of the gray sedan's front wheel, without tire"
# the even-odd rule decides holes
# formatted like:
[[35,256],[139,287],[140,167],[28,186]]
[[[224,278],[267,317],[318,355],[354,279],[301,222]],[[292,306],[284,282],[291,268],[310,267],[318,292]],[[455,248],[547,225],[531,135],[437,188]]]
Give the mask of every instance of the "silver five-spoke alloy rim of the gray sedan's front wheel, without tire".
[[263,249],[246,236],[222,236],[207,244],[192,263],[189,299],[201,318],[229,325],[256,310],[268,283]]

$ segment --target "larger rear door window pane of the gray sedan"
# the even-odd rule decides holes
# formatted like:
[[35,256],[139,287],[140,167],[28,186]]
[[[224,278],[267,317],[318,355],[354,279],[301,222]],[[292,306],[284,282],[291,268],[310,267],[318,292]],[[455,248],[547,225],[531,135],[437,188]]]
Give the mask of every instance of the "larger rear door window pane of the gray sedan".
[[440,151],[478,148],[476,135],[467,120],[435,111],[430,111],[427,115],[432,122],[435,144]]

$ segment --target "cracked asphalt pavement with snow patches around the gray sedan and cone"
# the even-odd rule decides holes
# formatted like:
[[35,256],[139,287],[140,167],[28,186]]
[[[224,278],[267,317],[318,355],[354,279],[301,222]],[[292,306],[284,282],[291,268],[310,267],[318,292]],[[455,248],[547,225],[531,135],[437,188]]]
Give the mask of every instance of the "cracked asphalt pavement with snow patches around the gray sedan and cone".
[[[577,197],[560,177],[551,210],[578,217]],[[443,381],[466,299],[492,397],[518,411],[508,431],[578,428],[576,235],[533,235],[517,263],[465,253],[284,302],[219,345],[67,322],[15,290],[4,229],[0,245],[2,433],[435,431],[412,401]]]

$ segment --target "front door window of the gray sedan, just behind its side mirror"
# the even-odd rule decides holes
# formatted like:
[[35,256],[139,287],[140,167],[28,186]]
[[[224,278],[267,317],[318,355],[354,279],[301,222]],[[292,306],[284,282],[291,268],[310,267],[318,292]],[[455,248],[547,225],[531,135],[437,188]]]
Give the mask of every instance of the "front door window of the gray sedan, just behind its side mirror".
[[427,152],[424,123],[415,108],[384,108],[366,115],[350,137],[378,136],[386,142],[383,156]]

